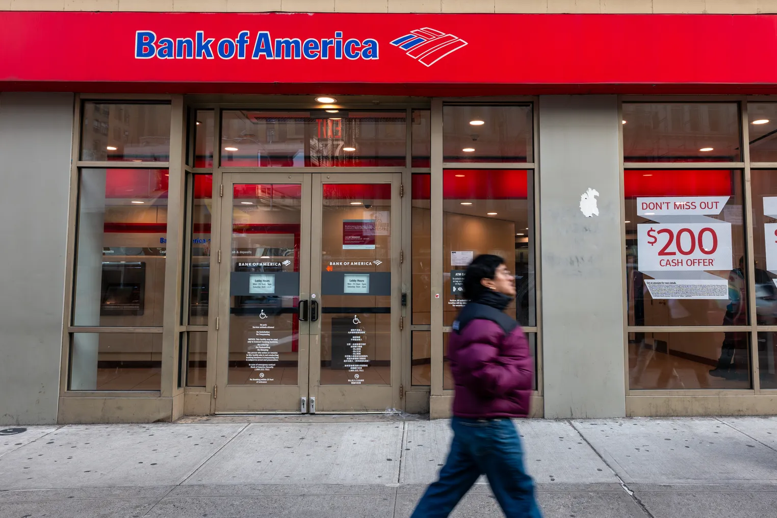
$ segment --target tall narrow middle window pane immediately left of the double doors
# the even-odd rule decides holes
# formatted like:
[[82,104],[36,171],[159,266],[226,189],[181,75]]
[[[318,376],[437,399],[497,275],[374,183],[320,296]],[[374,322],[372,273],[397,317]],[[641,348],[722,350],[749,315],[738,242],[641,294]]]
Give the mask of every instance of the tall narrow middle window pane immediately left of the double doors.
[[193,181],[189,324],[207,325],[208,298],[211,286],[211,210],[213,175],[190,175]]

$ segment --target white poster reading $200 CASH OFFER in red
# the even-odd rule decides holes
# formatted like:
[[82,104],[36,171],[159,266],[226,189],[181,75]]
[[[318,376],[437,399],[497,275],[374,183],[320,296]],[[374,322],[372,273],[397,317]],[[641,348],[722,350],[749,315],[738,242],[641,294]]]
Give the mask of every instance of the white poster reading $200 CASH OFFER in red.
[[729,270],[730,223],[638,224],[640,272]]

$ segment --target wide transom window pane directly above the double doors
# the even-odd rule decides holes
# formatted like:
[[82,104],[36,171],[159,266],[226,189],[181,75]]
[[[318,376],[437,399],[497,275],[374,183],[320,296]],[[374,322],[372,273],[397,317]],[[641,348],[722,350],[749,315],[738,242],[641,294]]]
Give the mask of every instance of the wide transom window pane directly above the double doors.
[[227,110],[223,167],[405,167],[407,115]]

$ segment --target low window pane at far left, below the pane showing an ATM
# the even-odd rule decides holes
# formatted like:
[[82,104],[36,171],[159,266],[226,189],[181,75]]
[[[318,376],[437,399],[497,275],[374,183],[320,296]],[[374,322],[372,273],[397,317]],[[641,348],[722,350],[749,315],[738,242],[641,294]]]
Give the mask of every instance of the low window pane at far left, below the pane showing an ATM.
[[71,391],[159,391],[161,333],[71,335]]

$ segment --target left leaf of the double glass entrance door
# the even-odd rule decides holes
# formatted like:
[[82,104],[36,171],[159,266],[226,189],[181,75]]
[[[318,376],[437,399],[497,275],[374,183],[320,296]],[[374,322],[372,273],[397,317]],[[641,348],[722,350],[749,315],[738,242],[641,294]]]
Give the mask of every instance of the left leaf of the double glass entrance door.
[[310,175],[231,173],[223,186],[216,412],[305,412]]

